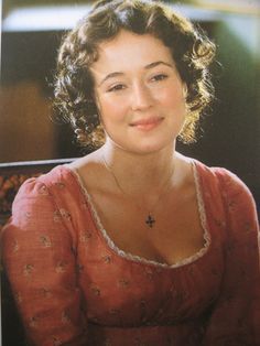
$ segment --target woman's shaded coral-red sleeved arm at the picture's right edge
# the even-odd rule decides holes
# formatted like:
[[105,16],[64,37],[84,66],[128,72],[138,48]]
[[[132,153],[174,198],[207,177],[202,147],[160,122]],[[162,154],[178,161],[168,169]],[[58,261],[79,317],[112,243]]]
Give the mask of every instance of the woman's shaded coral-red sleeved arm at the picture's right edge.
[[226,212],[225,272],[205,345],[260,344],[259,226],[248,187],[226,170],[217,172]]

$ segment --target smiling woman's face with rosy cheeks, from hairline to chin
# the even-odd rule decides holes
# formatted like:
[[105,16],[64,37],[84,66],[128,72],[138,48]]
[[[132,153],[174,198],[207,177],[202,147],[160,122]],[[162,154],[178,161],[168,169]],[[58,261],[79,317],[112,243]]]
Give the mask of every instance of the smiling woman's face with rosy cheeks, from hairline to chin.
[[136,153],[173,145],[186,113],[185,86],[159,39],[122,30],[99,45],[90,71],[107,140]]

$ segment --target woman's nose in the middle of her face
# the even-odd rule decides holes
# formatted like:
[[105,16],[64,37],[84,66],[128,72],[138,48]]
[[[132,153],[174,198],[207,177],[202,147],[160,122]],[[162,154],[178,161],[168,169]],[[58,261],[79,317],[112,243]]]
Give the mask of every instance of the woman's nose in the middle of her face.
[[136,84],[132,87],[132,110],[143,110],[153,104],[153,96],[150,88],[144,84]]

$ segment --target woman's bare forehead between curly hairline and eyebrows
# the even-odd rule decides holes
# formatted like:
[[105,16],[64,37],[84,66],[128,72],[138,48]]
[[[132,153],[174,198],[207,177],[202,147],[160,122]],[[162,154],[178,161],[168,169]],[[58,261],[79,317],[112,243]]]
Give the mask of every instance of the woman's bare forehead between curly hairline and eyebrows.
[[121,30],[117,36],[98,45],[98,58],[91,67],[120,69],[120,66],[141,66],[159,60],[173,63],[170,48],[160,39]]

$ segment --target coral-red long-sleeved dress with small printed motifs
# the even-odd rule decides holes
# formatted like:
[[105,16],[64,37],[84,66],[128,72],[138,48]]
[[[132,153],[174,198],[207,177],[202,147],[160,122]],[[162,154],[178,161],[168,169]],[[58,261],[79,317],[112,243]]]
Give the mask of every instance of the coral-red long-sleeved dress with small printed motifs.
[[68,166],[22,185],[1,242],[32,345],[260,345],[252,196],[229,171],[192,164],[205,245],[173,266],[120,250]]

